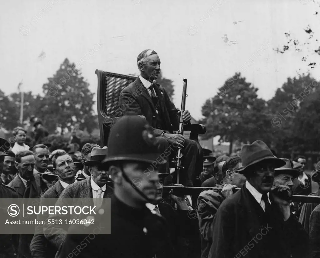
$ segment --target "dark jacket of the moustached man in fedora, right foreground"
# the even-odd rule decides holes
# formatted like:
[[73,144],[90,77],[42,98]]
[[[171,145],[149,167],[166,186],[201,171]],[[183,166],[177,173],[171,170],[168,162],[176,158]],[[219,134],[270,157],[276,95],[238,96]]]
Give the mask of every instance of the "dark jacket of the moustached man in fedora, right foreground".
[[242,187],[220,205],[214,218],[211,258],[303,257],[308,233],[291,214],[287,221],[275,203],[266,212]]

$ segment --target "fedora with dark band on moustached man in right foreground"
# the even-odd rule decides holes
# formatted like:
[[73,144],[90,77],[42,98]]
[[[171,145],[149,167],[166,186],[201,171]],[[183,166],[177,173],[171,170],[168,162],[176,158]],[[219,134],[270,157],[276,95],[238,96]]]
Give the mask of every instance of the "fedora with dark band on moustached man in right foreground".
[[248,167],[257,164],[262,160],[268,160],[274,168],[285,165],[285,161],[276,158],[267,144],[263,141],[254,141],[252,144],[244,144],[241,150],[241,159],[243,168],[237,170],[238,173],[245,173]]

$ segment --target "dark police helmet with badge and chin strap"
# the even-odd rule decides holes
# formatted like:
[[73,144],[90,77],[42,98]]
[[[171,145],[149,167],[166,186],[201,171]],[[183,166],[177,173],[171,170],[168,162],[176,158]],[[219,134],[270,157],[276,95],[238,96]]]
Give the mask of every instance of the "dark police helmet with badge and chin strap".
[[136,115],[124,116],[111,129],[108,157],[104,161],[130,160],[164,164],[166,160],[160,157],[157,144],[147,120]]

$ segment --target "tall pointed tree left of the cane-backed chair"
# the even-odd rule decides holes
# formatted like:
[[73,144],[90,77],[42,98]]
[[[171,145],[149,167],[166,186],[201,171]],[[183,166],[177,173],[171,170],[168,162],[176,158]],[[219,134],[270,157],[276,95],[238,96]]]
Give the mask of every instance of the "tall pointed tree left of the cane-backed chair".
[[39,117],[50,133],[57,127],[61,128],[61,133],[66,128],[70,131],[75,124],[89,133],[97,127],[92,109],[94,93],[74,63],[66,58],[48,81],[42,87],[44,97],[38,109]]

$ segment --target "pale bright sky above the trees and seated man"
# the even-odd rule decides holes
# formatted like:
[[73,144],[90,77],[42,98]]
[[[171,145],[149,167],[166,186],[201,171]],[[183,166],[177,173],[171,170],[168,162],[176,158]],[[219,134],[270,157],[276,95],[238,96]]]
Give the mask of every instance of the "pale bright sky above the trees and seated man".
[[22,79],[24,91],[42,93],[66,57],[81,64],[96,93],[95,69],[137,73],[137,55],[154,49],[163,76],[174,82],[178,108],[188,78],[186,106],[196,119],[204,101],[240,69],[259,96],[270,99],[287,77],[306,67],[302,52],[273,50],[286,42],[284,32],[305,38],[308,24],[319,28],[317,4],[310,0],[12,0],[0,7],[5,93],[16,92]]

